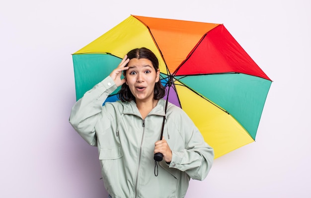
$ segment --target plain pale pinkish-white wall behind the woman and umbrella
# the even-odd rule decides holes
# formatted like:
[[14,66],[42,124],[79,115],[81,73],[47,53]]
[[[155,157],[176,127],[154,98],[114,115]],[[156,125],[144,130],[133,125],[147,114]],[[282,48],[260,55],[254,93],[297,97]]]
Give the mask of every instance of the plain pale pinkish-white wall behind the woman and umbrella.
[[219,159],[186,198],[311,197],[311,2],[3,0],[0,197],[106,198],[97,150],[68,122],[71,54],[130,14],[223,23],[274,81],[256,142]]

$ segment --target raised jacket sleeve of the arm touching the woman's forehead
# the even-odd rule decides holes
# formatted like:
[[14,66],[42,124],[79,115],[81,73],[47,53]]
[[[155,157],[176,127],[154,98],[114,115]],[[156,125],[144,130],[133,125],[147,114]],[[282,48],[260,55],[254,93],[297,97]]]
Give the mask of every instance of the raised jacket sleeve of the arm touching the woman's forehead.
[[100,119],[102,104],[117,89],[110,76],[86,92],[73,106],[69,122],[90,145],[97,146],[95,125]]

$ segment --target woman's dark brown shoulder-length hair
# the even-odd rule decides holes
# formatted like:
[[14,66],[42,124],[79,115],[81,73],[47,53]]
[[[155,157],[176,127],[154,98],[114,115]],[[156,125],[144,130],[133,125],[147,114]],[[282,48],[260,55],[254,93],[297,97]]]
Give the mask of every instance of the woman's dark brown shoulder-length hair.
[[[156,55],[150,50],[147,49],[145,47],[142,48],[136,48],[133,49],[131,51],[129,51],[127,53],[127,57],[131,60],[133,58],[137,58],[137,59],[141,59],[141,58],[145,58],[148,59],[152,62],[155,70],[157,71],[157,69],[159,68],[159,63],[158,60],[156,58]],[[126,76],[126,70],[123,73],[123,76]],[[155,90],[154,90],[154,99],[161,99],[165,96],[165,88],[163,87],[163,85],[161,84],[161,81],[159,80],[156,85],[155,85]],[[118,92],[118,98],[121,101],[131,101],[131,100],[135,100],[135,97],[133,96],[130,88],[128,85],[126,85],[126,83],[124,83],[121,86],[121,89]]]

